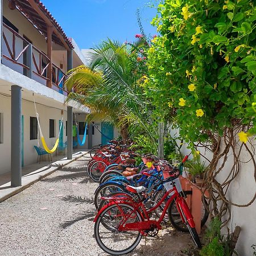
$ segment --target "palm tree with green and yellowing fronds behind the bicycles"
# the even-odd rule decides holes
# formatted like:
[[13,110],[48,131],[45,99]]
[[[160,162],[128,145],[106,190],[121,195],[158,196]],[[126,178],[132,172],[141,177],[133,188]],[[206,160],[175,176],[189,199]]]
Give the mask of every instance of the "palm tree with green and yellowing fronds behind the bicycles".
[[133,47],[108,39],[90,53],[90,65],[72,69],[66,81],[74,88],[68,100],[88,106],[88,119],[100,118],[119,127],[126,141],[129,131],[141,128],[156,147],[156,130],[148,111],[148,101],[137,84],[137,62]]

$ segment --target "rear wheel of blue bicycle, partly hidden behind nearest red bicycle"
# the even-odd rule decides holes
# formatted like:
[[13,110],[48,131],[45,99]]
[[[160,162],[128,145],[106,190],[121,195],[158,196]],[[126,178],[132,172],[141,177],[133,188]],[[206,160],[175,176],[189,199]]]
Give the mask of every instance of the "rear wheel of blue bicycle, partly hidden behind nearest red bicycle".
[[108,183],[108,184],[103,184],[101,187],[96,189],[95,195],[94,195],[94,205],[95,208],[98,209],[100,203],[101,203],[101,197],[102,196],[109,196],[111,193],[114,192],[127,192],[126,188],[122,184],[118,183]]

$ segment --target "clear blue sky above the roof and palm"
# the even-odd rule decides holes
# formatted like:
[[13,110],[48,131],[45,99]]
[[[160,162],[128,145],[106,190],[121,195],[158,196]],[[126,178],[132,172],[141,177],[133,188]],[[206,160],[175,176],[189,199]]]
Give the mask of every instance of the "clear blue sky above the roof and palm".
[[68,37],[80,48],[92,48],[106,38],[133,41],[139,34],[136,11],[139,8],[144,32],[156,34],[150,21],[157,0],[42,0]]

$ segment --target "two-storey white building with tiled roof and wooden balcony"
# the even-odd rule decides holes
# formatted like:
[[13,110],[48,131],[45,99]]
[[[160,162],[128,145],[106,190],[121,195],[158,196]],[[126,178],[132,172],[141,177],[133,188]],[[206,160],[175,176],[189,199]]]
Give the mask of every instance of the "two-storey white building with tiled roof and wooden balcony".
[[[34,148],[38,145],[34,101],[49,148],[59,136],[61,120],[60,145],[67,142],[69,159],[73,139],[76,141],[72,136],[75,119],[82,139],[89,110],[73,101],[64,103],[68,95],[64,81],[69,69],[85,63],[85,56],[39,0],[2,0],[0,5],[0,174],[11,170],[12,185],[20,185],[21,167],[35,163],[38,157]],[[99,130],[107,127],[94,123]],[[104,140],[92,125],[88,134],[79,148],[90,148]]]

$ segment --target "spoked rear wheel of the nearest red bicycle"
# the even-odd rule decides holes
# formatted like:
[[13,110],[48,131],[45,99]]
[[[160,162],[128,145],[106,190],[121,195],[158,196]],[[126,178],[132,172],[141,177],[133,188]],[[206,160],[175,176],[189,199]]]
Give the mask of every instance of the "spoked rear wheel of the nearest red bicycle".
[[[130,253],[141,241],[142,234],[136,230],[119,232],[120,222],[133,212],[134,208],[128,204],[114,204],[106,208],[94,224],[96,242],[106,253],[122,255]],[[125,223],[142,221],[138,211],[131,214]]]

